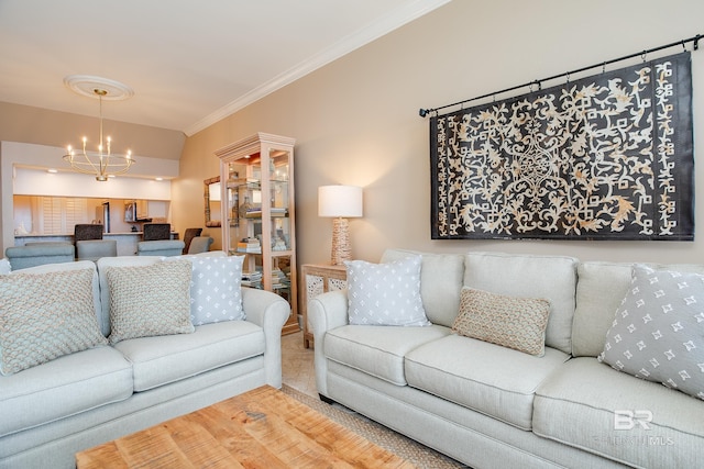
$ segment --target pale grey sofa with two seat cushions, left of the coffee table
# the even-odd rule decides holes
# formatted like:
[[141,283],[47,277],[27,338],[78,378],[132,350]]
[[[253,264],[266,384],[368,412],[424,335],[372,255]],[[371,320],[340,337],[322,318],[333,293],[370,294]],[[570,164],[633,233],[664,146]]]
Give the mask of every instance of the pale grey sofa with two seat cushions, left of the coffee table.
[[[45,265],[11,272],[3,276],[0,282],[4,284],[6,279],[29,282],[28,277],[18,276],[90,271],[92,280],[89,280],[87,292],[88,301],[92,302],[90,313],[95,313],[94,316],[97,317],[97,322],[94,322],[98,334],[111,337],[116,333],[116,323],[111,321],[112,312],[118,309],[128,310],[127,305],[118,303],[133,298],[136,305],[132,304],[130,308],[143,308],[143,311],[158,311],[161,308],[167,310],[170,308],[169,298],[164,298],[164,294],[172,287],[157,282],[164,284],[162,291],[155,288],[150,290],[147,287],[144,290],[150,293],[147,295],[129,284],[130,278],[125,272],[131,270],[120,270],[122,277],[113,275],[113,278],[108,272],[117,270],[110,269],[168,270],[172,266],[177,266],[180,269],[178,278],[183,279],[183,264],[179,261],[188,259],[195,266],[195,259],[200,257],[199,263],[210,265],[208,263],[213,263],[212,259],[219,254],[223,256],[223,253],[208,253],[208,256],[176,258],[102,258],[97,268],[91,261]],[[166,266],[166,263],[170,265]],[[186,282],[195,281],[195,269],[194,267],[194,278],[186,278]],[[156,270],[134,271],[147,277]],[[155,280],[144,277],[140,278],[139,284],[148,284]],[[167,273],[163,277],[170,280],[174,276]],[[120,281],[127,281],[128,287]],[[194,286],[197,287],[197,283],[185,288],[191,289]],[[174,301],[180,302],[185,298],[186,315],[193,315],[193,306],[188,301],[190,298],[194,302],[195,297],[182,294],[183,282],[179,282],[177,290],[178,295],[170,295],[172,299],[177,298]],[[6,293],[3,287],[2,294]],[[81,291],[76,295],[84,293],[86,292]],[[0,376],[0,468],[73,468],[75,453],[81,449],[263,384],[280,388],[280,331],[290,314],[288,303],[263,290],[242,288],[241,293],[237,289],[232,294],[235,300],[241,298],[240,304],[245,319],[229,321],[223,317],[218,322],[194,326],[188,316],[188,324],[184,324],[182,314],[178,320],[180,323],[177,323],[180,324],[179,327],[183,326],[180,333],[165,335],[157,335],[164,334],[164,331],[154,332],[151,328],[151,332],[141,334],[140,324],[125,325],[122,322],[119,326],[121,339],[117,343],[68,353],[41,365]],[[157,297],[163,299],[163,304],[150,305],[150,299]],[[230,308],[227,301],[231,299],[232,297],[224,300],[213,298],[212,311],[208,311],[208,308],[204,311],[201,308],[199,314],[224,312]],[[144,305],[140,306],[145,300]],[[176,309],[183,313],[182,309]],[[157,321],[158,324],[145,322],[144,327],[158,328],[170,321],[172,316],[165,316]],[[130,334],[134,335],[135,331],[136,335],[144,336],[130,338]],[[8,337],[6,335],[0,338],[6,340]],[[3,342],[0,346],[8,344]],[[9,347],[2,350],[6,353]]]

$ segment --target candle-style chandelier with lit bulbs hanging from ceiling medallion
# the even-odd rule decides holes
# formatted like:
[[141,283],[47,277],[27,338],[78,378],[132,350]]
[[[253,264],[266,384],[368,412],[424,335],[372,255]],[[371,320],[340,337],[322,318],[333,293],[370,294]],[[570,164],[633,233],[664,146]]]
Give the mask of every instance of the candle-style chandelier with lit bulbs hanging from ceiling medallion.
[[[74,88],[75,91],[80,92],[81,94],[88,96],[86,89],[76,88],[79,87],[80,83],[85,85],[85,81],[75,80],[75,82],[79,82],[79,85],[75,86],[75,82],[69,83],[69,78],[70,77],[67,77],[65,80],[69,87]],[[89,78],[95,79],[97,77]],[[91,91],[92,96],[97,97],[99,101],[100,133],[98,150],[91,152],[86,149],[88,138],[84,137],[82,149],[78,150],[69,145],[67,147],[68,153],[64,155],[64,160],[67,161],[75,171],[86,175],[95,175],[97,181],[107,181],[109,177],[125,174],[135,161],[132,159],[132,152],[128,150],[125,155],[113,154],[111,148],[111,138],[108,136],[103,139],[102,100],[108,96],[108,89],[95,87]]]

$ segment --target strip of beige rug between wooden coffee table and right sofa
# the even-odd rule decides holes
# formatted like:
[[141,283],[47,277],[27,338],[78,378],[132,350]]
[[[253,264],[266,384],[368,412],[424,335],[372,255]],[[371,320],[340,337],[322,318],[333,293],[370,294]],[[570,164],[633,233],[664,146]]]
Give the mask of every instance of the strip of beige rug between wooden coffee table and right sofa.
[[330,405],[319,399],[284,384],[282,391],[307,406],[320,412],[328,418],[356,433],[382,448],[400,456],[422,469],[468,468],[440,453],[430,449],[393,429],[377,424],[342,405]]

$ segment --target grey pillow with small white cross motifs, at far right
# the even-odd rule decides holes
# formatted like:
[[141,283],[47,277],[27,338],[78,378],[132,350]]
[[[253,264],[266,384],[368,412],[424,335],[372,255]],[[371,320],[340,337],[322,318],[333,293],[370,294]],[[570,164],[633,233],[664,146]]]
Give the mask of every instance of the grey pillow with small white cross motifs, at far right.
[[704,400],[704,276],[635,266],[598,360]]

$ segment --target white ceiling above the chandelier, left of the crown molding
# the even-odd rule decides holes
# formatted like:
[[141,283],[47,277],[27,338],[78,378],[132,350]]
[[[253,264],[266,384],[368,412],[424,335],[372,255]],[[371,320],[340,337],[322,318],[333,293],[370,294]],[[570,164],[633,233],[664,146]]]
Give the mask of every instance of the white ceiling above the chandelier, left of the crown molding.
[[0,101],[191,135],[450,0],[0,0]]

